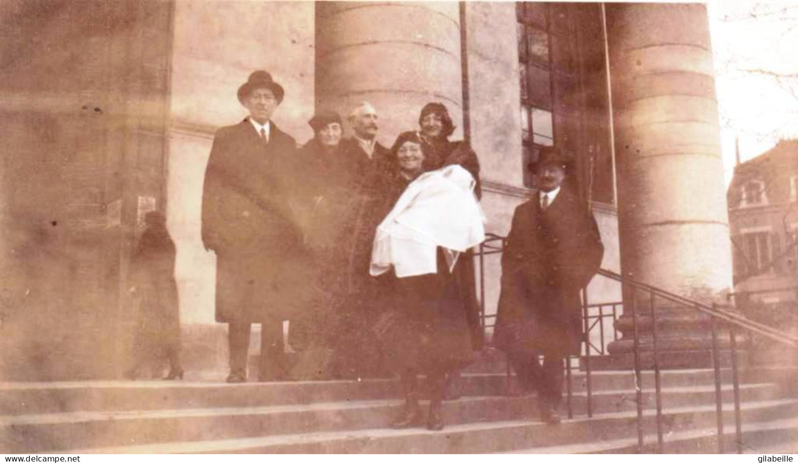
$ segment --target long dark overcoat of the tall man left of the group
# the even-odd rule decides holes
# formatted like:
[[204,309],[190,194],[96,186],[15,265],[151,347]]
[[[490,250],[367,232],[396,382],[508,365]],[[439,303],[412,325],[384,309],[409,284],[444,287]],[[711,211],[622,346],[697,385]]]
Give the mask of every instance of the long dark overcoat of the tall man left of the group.
[[279,322],[306,307],[307,252],[294,204],[294,138],[271,123],[219,129],[203,186],[202,239],[216,252],[216,321]]

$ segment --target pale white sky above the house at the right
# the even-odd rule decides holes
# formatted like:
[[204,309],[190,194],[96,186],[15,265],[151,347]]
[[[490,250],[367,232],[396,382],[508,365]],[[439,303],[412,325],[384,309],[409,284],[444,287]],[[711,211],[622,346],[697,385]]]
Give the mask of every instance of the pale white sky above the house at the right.
[[736,139],[745,161],[798,138],[798,0],[709,0],[707,10],[728,184]]

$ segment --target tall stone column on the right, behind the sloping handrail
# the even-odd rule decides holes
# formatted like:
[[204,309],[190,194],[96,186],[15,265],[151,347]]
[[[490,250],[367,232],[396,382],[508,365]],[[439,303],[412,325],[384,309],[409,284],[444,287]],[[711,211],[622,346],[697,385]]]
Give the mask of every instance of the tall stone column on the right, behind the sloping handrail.
[[[606,20],[622,271],[712,301],[732,287],[732,264],[705,6],[607,5]],[[618,326],[628,333],[625,293],[627,316]],[[674,365],[700,358],[695,350],[708,346],[706,324],[690,322],[690,309],[658,306],[658,315],[660,346],[691,351]],[[610,352],[628,353],[630,346],[627,336]]]

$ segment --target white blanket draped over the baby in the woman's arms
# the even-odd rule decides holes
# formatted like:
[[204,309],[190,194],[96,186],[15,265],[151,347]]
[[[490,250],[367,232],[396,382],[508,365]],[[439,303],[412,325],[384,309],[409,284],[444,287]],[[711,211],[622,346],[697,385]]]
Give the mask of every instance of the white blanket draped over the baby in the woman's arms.
[[474,178],[459,165],[425,172],[405,189],[377,227],[371,275],[393,267],[397,277],[437,273],[437,247],[452,271],[460,252],[485,239],[484,212],[474,196]]

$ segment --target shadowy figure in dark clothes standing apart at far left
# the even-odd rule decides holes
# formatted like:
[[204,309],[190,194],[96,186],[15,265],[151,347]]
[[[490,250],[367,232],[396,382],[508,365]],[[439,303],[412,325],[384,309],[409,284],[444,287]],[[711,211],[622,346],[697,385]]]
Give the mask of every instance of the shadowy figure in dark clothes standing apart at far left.
[[[180,314],[175,282],[175,243],[160,212],[144,216],[147,228],[132,255],[131,292],[139,300],[133,339],[132,366],[125,374],[135,379],[140,366],[166,357],[169,373],[164,379],[183,379],[180,365]],[[152,364],[155,369],[160,368]]]

